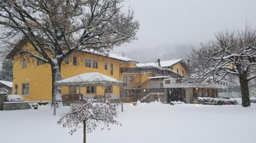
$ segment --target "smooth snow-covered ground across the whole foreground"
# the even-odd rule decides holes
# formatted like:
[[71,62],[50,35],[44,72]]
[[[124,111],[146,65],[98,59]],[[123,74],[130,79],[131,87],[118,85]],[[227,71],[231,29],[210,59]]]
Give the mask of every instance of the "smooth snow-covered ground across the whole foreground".
[[[39,109],[0,111],[0,142],[82,142],[82,130],[70,136],[68,129],[57,125],[68,106],[52,116],[50,106]],[[122,126],[96,130],[87,141],[102,142],[256,142],[256,104],[124,104],[120,112]]]

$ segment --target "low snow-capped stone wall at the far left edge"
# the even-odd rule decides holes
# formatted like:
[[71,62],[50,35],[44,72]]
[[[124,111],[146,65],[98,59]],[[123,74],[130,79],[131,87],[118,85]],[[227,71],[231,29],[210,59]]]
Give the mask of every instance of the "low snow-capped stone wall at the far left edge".
[[29,102],[5,102],[4,110],[22,110],[29,109]]

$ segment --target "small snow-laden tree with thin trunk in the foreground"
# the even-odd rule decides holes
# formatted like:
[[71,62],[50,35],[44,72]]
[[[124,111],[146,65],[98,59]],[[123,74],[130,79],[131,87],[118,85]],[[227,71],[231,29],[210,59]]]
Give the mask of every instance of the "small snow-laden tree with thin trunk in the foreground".
[[79,128],[83,128],[83,142],[86,143],[86,134],[94,131],[96,127],[104,125],[102,129],[110,130],[110,125],[121,125],[117,121],[118,104],[110,103],[104,99],[83,99],[80,100],[75,107],[71,108],[69,113],[66,113],[59,119],[57,124],[63,128],[71,128],[72,135]]

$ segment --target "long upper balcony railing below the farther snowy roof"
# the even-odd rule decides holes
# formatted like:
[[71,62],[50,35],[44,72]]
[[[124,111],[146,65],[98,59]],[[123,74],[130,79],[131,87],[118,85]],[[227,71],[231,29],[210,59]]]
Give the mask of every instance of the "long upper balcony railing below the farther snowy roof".
[[156,66],[143,66],[143,67],[122,67],[121,73],[141,73],[152,72],[159,76],[168,76],[172,78],[183,78],[184,76],[167,68]]

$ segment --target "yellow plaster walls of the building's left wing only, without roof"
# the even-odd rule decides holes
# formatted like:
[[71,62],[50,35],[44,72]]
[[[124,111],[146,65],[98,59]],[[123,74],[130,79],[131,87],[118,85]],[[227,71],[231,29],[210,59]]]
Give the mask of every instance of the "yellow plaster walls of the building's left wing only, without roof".
[[[26,44],[23,48],[31,48],[31,44]],[[73,65],[73,57],[77,57],[78,64]],[[27,59],[27,67],[23,68],[23,60]],[[86,67],[85,59],[98,61],[98,68]],[[29,83],[29,94],[23,95],[26,101],[51,101],[52,100],[52,78],[51,78],[51,66],[49,64],[42,64],[37,66],[37,60],[35,58],[29,57],[14,57],[13,64],[13,87],[15,84],[18,85],[17,94],[23,95],[22,84]],[[107,69],[105,70],[104,64],[107,63]],[[113,64],[113,75],[111,75],[110,65]],[[107,58],[105,56],[100,56],[96,54],[86,53],[86,52],[74,52],[69,56],[69,64],[65,64],[65,61],[61,65],[61,78],[65,79],[75,75],[89,72],[99,72],[104,75],[113,77],[115,79],[121,79],[122,75],[120,73],[120,67],[124,66],[136,66],[133,62],[124,62],[112,58]],[[103,87],[96,87],[97,95],[104,95]],[[15,88],[13,88],[13,93],[15,93]],[[62,95],[69,93],[68,87],[62,87]],[[86,94],[86,88],[83,87],[80,90],[81,94]],[[115,85],[113,87],[113,93],[109,95],[119,95],[120,87]]]

